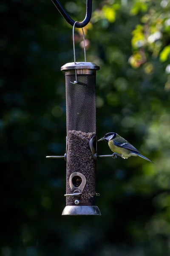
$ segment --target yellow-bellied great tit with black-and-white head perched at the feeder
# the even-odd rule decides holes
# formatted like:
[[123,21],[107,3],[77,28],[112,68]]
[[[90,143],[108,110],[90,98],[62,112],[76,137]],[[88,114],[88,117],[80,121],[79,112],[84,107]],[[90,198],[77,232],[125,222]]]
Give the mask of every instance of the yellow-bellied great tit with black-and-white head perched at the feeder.
[[[108,134],[105,134],[105,136],[98,141],[101,140],[106,140],[108,142],[109,148],[111,149],[111,151],[114,152],[113,157],[116,157],[116,155],[118,155],[123,159],[126,159],[131,156],[139,156],[147,161],[150,161],[148,158],[142,156],[142,154],[135,147],[133,147],[133,145],[128,143],[127,140],[125,140],[115,132],[109,132]],[[152,161],[150,162],[153,163]]]

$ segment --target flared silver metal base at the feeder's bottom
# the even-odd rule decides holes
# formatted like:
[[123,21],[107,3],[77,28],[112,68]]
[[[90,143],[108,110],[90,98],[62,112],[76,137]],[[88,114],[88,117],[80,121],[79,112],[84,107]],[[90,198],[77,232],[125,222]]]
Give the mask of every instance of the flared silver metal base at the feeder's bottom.
[[62,215],[101,215],[97,206],[68,205],[63,209]]

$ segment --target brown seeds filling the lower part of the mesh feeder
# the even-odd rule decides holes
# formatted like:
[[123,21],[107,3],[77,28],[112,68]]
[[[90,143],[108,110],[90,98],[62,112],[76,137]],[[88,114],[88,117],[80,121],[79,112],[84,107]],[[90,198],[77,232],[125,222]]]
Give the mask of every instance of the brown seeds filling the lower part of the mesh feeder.
[[[67,139],[68,139],[68,155],[67,155],[67,182],[69,180],[70,175],[73,172],[80,172],[82,173],[86,180],[83,193],[81,198],[79,198],[80,203],[94,203],[96,202],[95,199],[95,173],[96,173],[96,163],[91,153],[89,147],[89,140],[95,136],[95,133],[85,133],[82,131],[68,131]],[[79,180],[80,177],[75,176],[75,187],[78,187],[81,183]],[[81,178],[80,178],[81,179]],[[80,184],[79,184],[80,183]],[[73,183],[74,184],[74,183]],[[67,194],[72,193],[71,188],[68,184],[66,186]],[[90,200],[89,200],[90,198]],[[67,197],[67,203],[73,203],[74,198]]]

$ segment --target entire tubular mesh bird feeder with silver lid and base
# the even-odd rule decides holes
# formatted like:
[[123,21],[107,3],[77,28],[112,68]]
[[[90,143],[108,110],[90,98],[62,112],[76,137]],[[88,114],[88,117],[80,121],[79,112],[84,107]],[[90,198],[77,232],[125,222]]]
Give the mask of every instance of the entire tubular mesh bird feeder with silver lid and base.
[[62,215],[101,215],[96,206],[96,160],[89,141],[96,136],[96,70],[91,62],[67,63],[66,207]]

